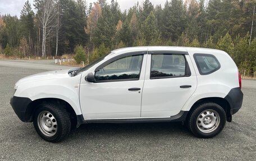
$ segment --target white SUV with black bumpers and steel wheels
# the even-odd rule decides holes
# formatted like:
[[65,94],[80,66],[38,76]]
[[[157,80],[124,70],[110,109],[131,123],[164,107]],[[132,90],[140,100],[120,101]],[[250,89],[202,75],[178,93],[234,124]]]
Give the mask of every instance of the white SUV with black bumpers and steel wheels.
[[47,141],[83,123],[182,121],[198,137],[221,132],[243,102],[241,78],[222,50],[131,47],[84,68],[25,77],[11,105]]

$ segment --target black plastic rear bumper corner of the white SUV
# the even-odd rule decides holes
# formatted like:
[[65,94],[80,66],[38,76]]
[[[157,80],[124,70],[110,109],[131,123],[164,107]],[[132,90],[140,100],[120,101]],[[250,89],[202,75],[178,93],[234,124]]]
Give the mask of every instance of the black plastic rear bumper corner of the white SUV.
[[242,107],[244,94],[240,88],[233,88],[225,96],[225,99],[230,104],[230,114],[235,114]]

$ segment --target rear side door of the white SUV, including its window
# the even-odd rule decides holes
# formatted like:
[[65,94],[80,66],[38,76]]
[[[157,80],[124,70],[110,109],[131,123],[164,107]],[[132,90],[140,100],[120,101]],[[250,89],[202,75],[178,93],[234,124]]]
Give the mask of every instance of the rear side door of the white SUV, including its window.
[[196,75],[187,52],[149,51],[141,117],[178,114],[196,89]]

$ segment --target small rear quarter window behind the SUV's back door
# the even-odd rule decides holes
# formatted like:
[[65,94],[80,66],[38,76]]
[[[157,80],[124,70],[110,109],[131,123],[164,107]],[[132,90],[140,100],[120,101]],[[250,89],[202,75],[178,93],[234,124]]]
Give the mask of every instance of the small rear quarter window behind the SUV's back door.
[[200,75],[208,75],[221,68],[218,59],[211,54],[194,54]]

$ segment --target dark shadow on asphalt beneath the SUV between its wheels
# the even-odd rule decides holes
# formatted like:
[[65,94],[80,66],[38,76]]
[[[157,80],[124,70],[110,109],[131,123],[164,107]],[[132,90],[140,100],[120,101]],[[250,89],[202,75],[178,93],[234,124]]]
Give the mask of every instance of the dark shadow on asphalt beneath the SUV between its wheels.
[[189,130],[181,122],[158,123],[89,123],[81,125],[68,136],[68,140],[102,138],[143,138],[154,137],[190,137]]

